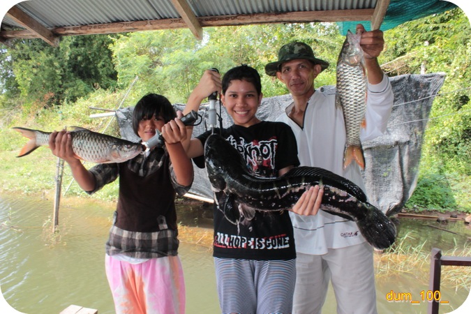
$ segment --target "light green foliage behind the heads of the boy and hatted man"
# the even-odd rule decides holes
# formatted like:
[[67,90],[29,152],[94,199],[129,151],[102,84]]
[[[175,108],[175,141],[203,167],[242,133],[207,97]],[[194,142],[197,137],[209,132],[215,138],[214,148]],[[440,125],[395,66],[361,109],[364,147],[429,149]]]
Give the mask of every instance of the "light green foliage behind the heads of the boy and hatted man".
[[[127,86],[139,77],[137,89],[164,94],[184,103],[204,70],[248,64],[262,75],[264,96],[286,94],[285,87],[264,75],[264,66],[275,61],[279,47],[293,40],[314,47],[317,56],[336,63],[343,41],[336,24],[268,24],[205,28],[202,41],[188,30],[130,33],[114,40],[113,60],[119,84]],[[335,67],[323,73],[317,84],[333,84]]]

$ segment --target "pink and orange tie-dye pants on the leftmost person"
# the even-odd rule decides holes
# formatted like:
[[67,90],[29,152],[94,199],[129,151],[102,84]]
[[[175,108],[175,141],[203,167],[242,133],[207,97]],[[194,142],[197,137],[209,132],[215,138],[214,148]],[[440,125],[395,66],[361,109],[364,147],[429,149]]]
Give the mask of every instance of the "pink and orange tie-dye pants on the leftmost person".
[[185,313],[185,283],[178,256],[153,258],[140,264],[105,256],[116,313]]

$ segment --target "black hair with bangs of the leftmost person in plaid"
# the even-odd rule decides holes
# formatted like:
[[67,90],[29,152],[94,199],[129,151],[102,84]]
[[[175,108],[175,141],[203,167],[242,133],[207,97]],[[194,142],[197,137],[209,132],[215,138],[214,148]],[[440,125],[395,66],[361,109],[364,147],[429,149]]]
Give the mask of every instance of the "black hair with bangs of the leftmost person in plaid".
[[161,117],[165,123],[177,117],[177,113],[170,101],[165,96],[147,94],[135,105],[133,112],[133,130],[136,135],[139,130],[139,122],[142,119],[151,119],[152,116]]

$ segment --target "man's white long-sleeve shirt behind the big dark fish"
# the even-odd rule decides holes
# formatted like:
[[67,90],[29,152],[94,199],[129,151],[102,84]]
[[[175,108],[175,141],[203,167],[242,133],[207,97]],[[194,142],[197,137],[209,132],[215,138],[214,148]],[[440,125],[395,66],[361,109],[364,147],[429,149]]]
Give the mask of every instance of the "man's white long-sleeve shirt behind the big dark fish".
[[[365,190],[360,168],[352,162],[343,169],[345,150],[345,122],[343,112],[335,105],[335,89],[320,88],[308,100],[304,128],[298,126],[287,113],[278,117],[291,126],[297,140],[301,165],[322,167],[339,174]],[[384,133],[391,115],[394,95],[387,75],[380,84],[368,85],[366,129],[361,129],[361,141],[371,140]],[[290,212],[294,227],[296,249],[300,253],[322,255],[328,248],[343,248],[365,241],[353,221],[319,211],[315,216],[300,216]]]

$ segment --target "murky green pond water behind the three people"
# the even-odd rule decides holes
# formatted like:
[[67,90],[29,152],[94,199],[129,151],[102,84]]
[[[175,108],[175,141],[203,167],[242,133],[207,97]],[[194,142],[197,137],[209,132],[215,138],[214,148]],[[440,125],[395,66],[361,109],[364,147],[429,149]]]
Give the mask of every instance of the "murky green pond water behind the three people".
[[[195,232],[211,234],[211,207],[179,209],[183,225],[196,226]],[[8,303],[22,313],[59,313],[71,304],[96,308],[98,313],[114,313],[104,271],[104,251],[112,210],[93,202],[61,207],[59,236],[52,237],[52,201],[0,195],[0,288]],[[471,230],[462,222],[440,226],[456,232],[429,227],[432,220],[401,218],[399,237],[405,234],[429,254],[431,247],[443,251],[470,248],[466,238]],[[405,244],[404,244],[405,245]],[[181,243],[179,254],[184,267],[188,314],[219,313],[211,248]],[[421,270],[408,260],[400,270],[396,260],[384,261],[375,254],[377,308],[379,313],[426,313],[427,302],[420,301],[428,291],[428,257]],[[413,264],[413,263],[412,263]],[[410,268],[410,267],[412,268]],[[384,270],[386,269],[386,270]],[[425,274],[425,275],[424,275]],[[469,273],[468,273],[469,274]],[[470,293],[471,278],[464,287],[442,283],[440,313],[449,313],[463,304]],[[388,296],[411,294],[419,304],[388,301]],[[335,313],[334,292],[329,290],[324,313]]]

